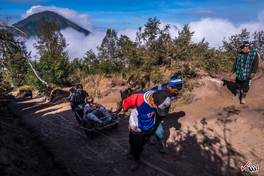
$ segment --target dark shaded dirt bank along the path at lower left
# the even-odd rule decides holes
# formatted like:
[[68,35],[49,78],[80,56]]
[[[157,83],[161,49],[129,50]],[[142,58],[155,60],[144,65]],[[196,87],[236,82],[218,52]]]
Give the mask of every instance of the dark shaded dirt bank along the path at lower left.
[[63,175],[38,138],[20,125],[22,117],[0,104],[0,175]]

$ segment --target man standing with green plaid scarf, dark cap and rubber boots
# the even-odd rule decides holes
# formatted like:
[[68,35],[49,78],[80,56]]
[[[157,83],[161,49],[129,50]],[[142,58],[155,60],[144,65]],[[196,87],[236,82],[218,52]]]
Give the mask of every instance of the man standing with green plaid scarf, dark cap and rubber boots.
[[251,79],[256,75],[258,69],[258,54],[252,48],[250,48],[249,43],[244,41],[239,46],[241,52],[237,56],[237,60],[234,62],[233,68],[229,73],[229,77],[236,73],[235,79],[235,90],[237,95],[232,99],[235,100],[239,98],[240,91],[242,90],[241,104],[246,103],[247,92],[251,85]]

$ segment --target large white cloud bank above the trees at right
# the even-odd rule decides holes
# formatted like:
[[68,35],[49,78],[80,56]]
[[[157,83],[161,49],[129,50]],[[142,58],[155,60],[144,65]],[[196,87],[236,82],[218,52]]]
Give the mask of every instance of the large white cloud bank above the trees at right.
[[[223,39],[228,37],[240,34],[243,28],[247,28],[247,31],[250,32],[250,36],[255,31],[262,31],[264,29],[264,11],[260,11],[258,13],[258,21],[250,21],[239,24],[234,24],[230,22],[228,19],[220,19],[220,18],[202,18],[200,21],[190,21],[189,27],[190,31],[195,31],[194,36],[192,37],[193,42],[199,42],[205,37],[205,40],[210,43],[211,47],[222,46]],[[162,22],[162,21],[161,21]],[[169,22],[167,22],[169,23]],[[161,26],[166,25],[167,23],[162,22]],[[171,24],[171,34],[172,38],[178,36],[178,30],[183,29],[183,24],[178,23],[170,23]],[[250,41],[253,40],[251,37]]]

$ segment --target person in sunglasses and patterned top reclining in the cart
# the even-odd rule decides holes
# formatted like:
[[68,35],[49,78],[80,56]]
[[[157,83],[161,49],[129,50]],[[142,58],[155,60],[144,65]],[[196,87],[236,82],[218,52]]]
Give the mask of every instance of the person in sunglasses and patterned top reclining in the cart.
[[[87,97],[86,98],[86,102],[87,105],[84,107],[84,116],[86,118],[88,118],[89,120],[95,120],[98,121],[98,123],[100,123],[103,127],[106,126],[107,124],[104,123],[103,121],[99,120],[100,117],[100,111],[101,113],[106,117],[109,116],[110,114],[108,113],[108,111],[105,109],[105,107],[103,107],[101,104],[99,103],[94,103],[93,102],[93,98],[92,97]],[[99,111],[100,110],[100,111]],[[112,119],[111,117],[107,117],[107,119],[109,120],[109,123],[115,123],[116,121],[114,119]]]

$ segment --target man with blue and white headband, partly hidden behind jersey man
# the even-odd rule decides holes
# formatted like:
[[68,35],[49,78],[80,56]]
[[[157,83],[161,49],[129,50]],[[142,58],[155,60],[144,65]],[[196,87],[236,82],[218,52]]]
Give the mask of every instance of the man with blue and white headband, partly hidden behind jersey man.
[[[179,77],[172,76],[168,83],[160,84],[156,87],[153,87],[151,90],[166,90],[170,93],[171,99],[174,99],[174,97],[177,95],[178,91],[182,89],[182,87],[183,87],[182,80]],[[152,133],[159,141],[159,151],[161,153],[166,153],[166,149],[163,142],[164,130],[161,126],[161,121],[164,117],[166,117],[166,115],[161,116],[159,114],[156,114],[154,129],[152,130]],[[150,145],[155,145],[155,142],[150,139],[148,139],[147,143]]]

